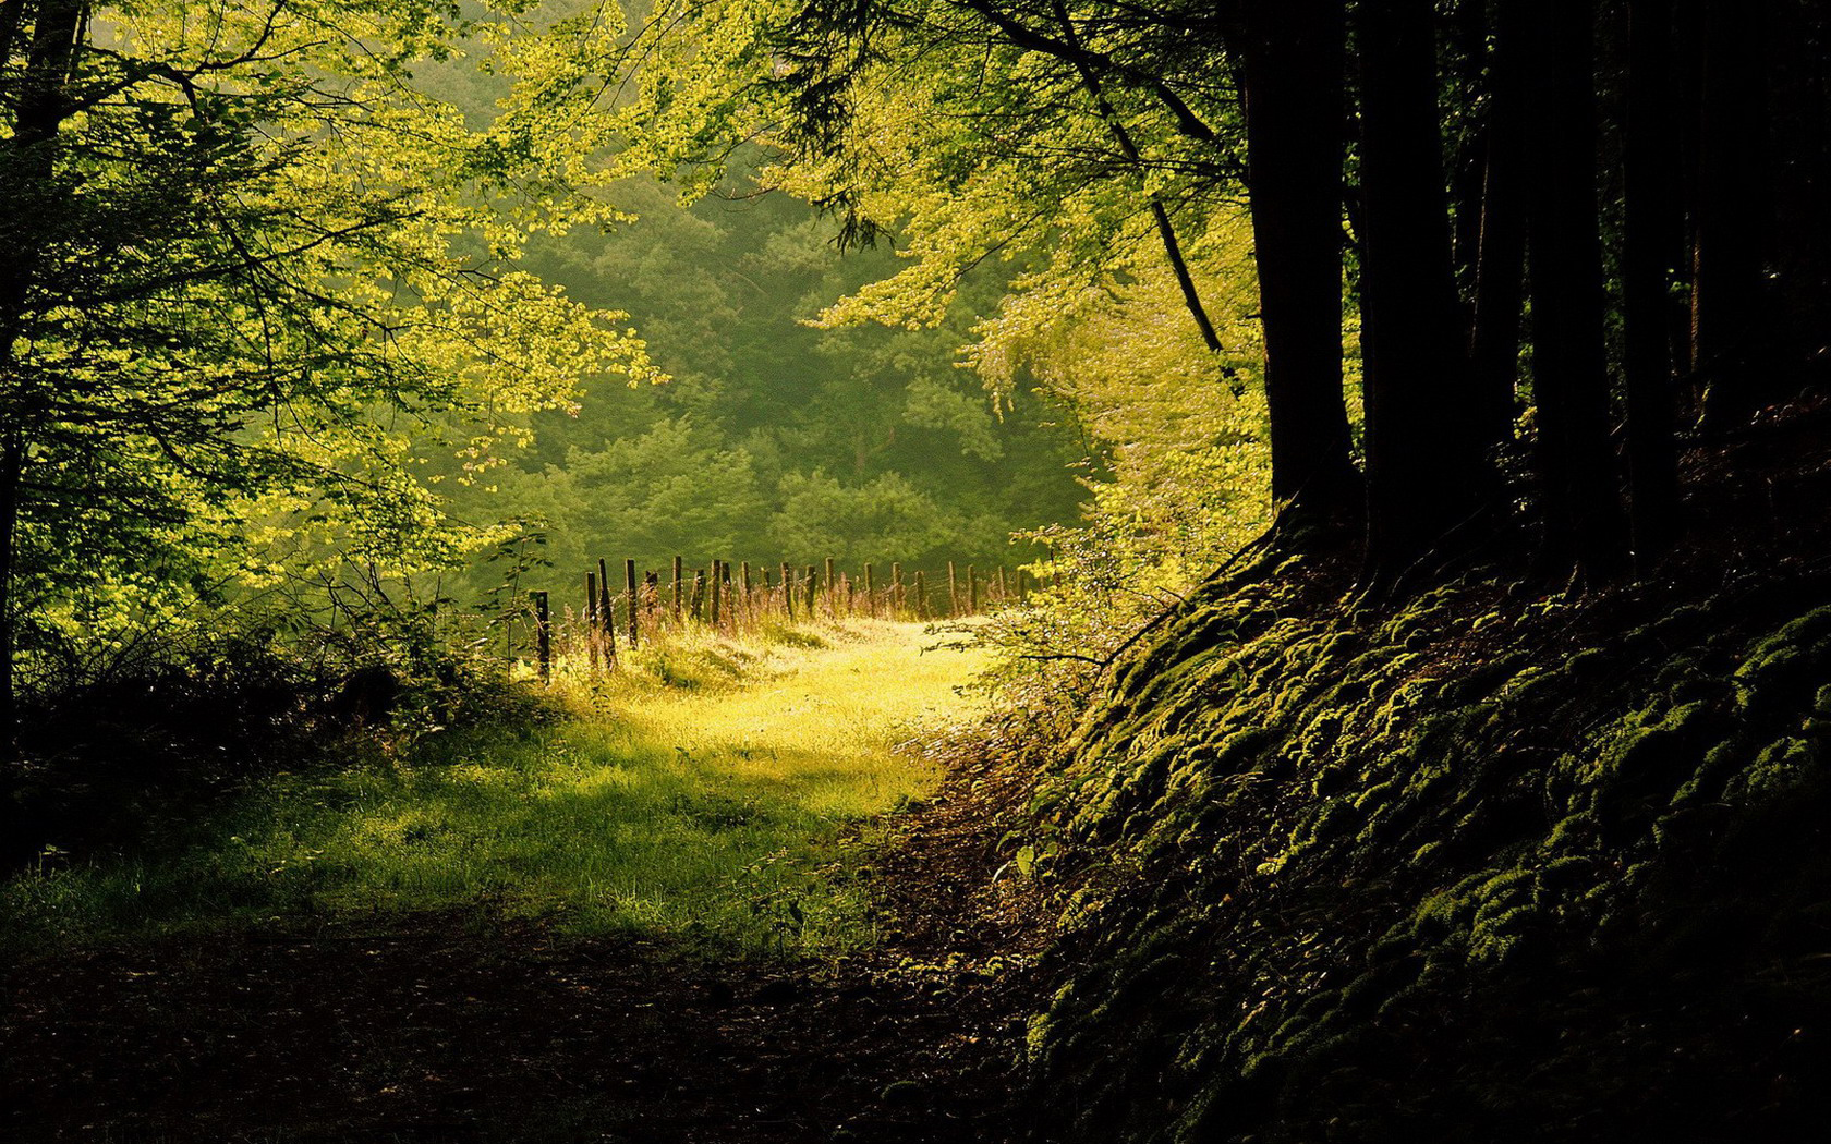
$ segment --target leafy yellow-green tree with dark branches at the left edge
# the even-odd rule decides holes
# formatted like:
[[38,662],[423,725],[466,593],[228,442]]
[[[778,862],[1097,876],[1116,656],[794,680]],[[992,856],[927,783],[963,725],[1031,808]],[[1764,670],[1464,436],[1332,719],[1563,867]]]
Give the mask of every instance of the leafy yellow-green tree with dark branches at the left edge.
[[0,35],[9,738],[20,635],[49,646],[71,599],[181,610],[333,540],[436,562],[416,450],[487,469],[580,372],[648,372],[617,315],[515,265],[602,218],[544,163],[553,123],[522,103],[469,130],[414,90],[458,51],[445,5],[101,15],[13,4]]

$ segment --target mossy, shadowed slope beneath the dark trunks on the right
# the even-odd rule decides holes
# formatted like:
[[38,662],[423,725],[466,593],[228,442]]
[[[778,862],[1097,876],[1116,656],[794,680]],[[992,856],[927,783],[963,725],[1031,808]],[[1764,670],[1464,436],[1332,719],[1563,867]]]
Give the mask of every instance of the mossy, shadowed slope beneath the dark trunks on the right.
[[1040,796],[1071,888],[1047,1137],[1831,1115],[1826,577],[1355,613],[1263,573],[1143,650]]

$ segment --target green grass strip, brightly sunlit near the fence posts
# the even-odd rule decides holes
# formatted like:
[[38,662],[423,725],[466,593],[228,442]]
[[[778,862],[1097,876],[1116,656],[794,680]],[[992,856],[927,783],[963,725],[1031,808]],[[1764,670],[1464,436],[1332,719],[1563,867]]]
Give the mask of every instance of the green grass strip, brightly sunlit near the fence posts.
[[848,838],[937,782],[899,745],[969,714],[954,688],[978,655],[932,642],[873,622],[677,639],[610,679],[568,664],[557,725],[275,776],[159,853],[15,879],[4,941],[480,908],[707,950],[853,948],[872,923]]

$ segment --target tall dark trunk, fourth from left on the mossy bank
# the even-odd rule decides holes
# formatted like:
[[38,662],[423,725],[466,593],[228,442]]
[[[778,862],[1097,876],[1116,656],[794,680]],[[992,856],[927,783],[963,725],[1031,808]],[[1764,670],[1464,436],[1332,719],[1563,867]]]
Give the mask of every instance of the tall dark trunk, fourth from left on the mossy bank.
[[1620,498],[1608,426],[1597,221],[1595,0],[1542,0],[1533,22],[1538,172],[1527,194],[1533,390],[1547,567],[1613,575]]

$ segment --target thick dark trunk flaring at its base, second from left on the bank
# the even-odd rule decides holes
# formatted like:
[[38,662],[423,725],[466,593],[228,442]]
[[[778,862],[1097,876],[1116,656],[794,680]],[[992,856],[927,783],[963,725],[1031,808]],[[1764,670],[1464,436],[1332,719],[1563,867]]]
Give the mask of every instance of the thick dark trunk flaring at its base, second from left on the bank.
[[1360,4],[1368,580],[1467,523],[1489,489],[1450,276],[1430,0]]

